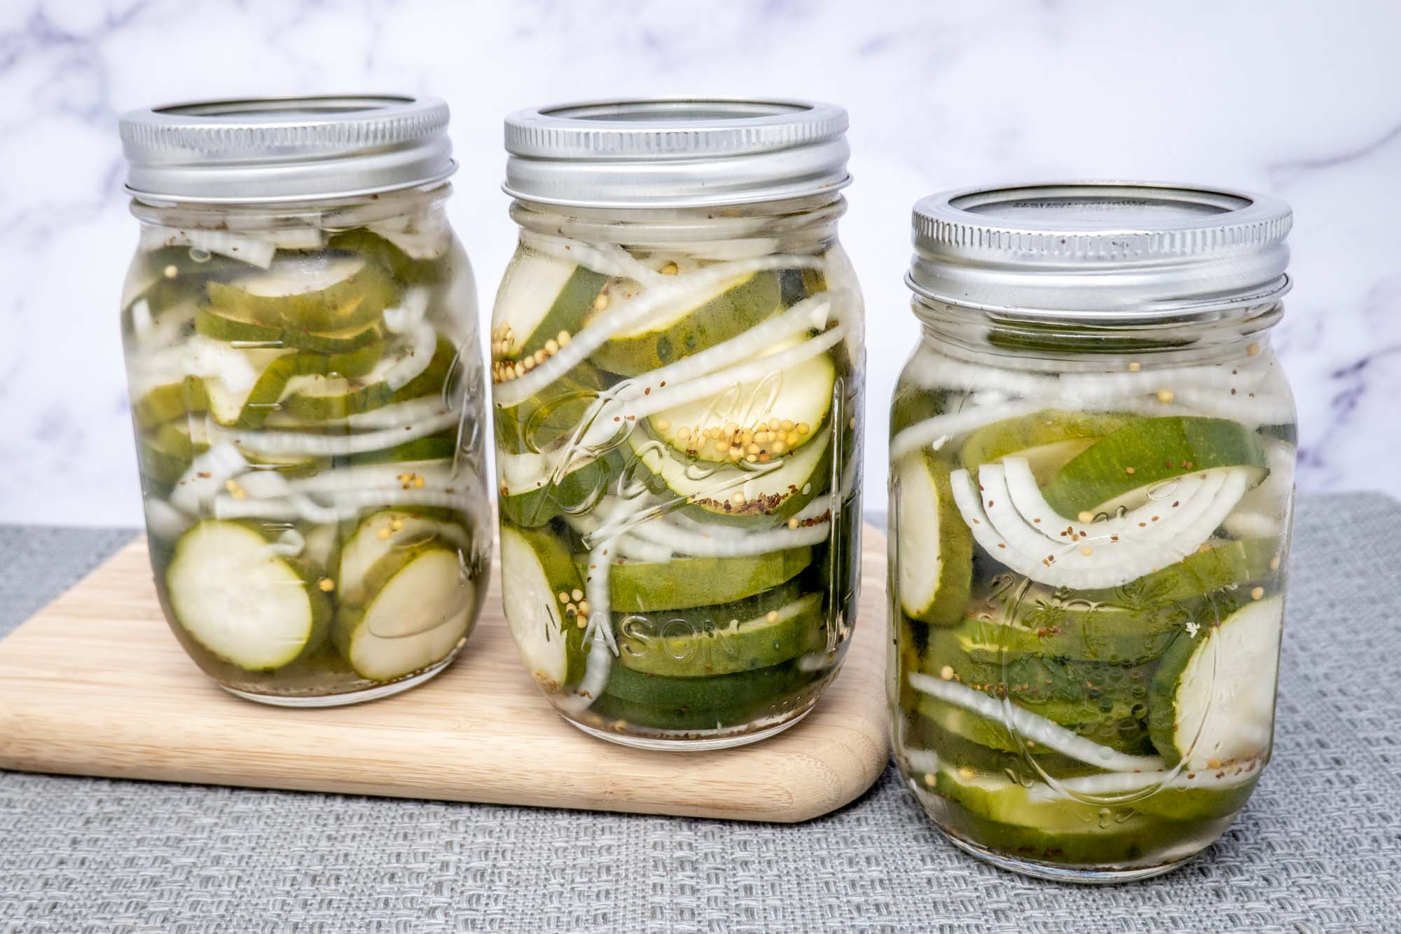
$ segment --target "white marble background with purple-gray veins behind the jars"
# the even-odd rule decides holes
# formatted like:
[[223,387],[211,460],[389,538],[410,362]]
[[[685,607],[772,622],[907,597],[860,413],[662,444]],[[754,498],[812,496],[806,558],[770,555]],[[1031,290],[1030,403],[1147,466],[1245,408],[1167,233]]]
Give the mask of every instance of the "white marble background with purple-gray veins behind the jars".
[[843,240],[869,313],[867,495],[915,339],[929,191],[1140,177],[1296,210],[1276,338],[1306,489],[1401,484],[1401,4],[1379,0],[0,4],[0,522],[140,522],[116,303],[136,223],[116,116],[177,100],[432,91],[483,314],[514,231],[500,116],[616,94],[793,95],[852,115]]

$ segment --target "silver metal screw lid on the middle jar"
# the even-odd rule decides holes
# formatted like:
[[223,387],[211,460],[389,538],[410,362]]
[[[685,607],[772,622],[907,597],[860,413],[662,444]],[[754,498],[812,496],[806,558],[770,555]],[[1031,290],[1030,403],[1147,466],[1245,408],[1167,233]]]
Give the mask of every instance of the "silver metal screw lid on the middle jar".
[[813,101],[654,98],[506,118],[506,194],[576,208],[741,205],[850,182],[846,111]]

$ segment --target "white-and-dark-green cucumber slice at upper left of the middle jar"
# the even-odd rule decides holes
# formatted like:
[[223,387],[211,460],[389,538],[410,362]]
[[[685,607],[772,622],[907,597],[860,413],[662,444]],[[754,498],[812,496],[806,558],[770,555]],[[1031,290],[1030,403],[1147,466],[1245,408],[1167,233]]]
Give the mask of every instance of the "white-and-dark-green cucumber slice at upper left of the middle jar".
[[[573,335],[607,276],[530,250],[517,250],[496,292],[492,359],[517,360]],[[566,341],[569,337],[565,338]]]

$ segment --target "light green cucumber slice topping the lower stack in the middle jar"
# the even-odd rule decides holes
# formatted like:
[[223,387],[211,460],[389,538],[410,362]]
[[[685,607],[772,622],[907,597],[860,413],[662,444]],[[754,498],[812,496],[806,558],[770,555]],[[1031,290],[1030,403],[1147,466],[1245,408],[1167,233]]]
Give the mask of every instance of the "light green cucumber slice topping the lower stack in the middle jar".
[[[584,576],[594,568],[580,560]],[[740,600],[793,579],[813,564],[813,548],[785,548],[744,558],[672,558],[608,565],[608,592],[614,613],[684,610]]]

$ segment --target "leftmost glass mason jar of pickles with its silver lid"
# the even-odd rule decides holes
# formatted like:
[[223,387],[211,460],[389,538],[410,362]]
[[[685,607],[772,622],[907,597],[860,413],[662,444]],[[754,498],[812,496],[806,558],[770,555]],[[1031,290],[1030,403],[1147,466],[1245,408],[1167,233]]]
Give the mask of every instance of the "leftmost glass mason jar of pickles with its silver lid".
[[129,114],[122,139],[142,222],[122,339],[177,638],[269,704],[432,677],[492,544],[447,107],[216,101]]

